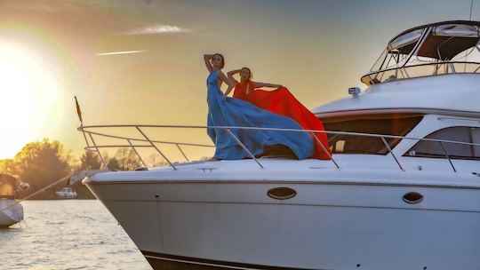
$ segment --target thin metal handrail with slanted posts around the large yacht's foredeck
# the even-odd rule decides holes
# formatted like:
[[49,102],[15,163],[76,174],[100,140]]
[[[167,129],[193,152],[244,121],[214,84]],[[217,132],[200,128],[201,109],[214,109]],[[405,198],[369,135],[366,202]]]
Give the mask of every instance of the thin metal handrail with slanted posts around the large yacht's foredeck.
[[[135,128],[137,131],[140,132],[140,134],[145,138],[145,139],[134,139],[130,137],[123,137],[123,136],[116,136],[116,135],[110,135],[107,133],[102,133],[98,131],[91,131],[91,129],[97,129],[97,128]],[[143,161],[143,159],[140,156],[140,153],[136,150],[136,147],[153,147],[156,149],[156,151],[164,157],[164,159],[167,161],[167,163],[170,164],[170,166],[173,168],[173,170],[177,171],[177,167],[172,163],[166,155],[158,148],[156,147],[156,143],[161,143],[161,144],[172,144],[176,145],[179,150],[181,155],[185,157],[187,161],[188,156],[185,155],[183,150],[181,149],[181,146],[196,146],[196,147],[214,147],[212,145],[204,145],[204,144],[194,144],[194,143],[183,143],[183,142],[172,142],[172,141],[159,141],[159,140],[152,140],[149,139],[147,134],[141,130],[141,128],[177,128],[177,129],[216,129],[216,130],[225,130],[232,136],[236,142],[238,143],[239,147],[242,147],[244,151],[252,158],[252,160],[255,161],[259,165],[261,169],[264,169],[264,166],[260,163],[260,160],[256,158],[254,155],[252,155],[252,152],[244,146],[244,144],[236,137],[236,135],[231,131],[231,130],[260,130],[260,131],[288,131],[288,132],[308,132],[308,133],[325,133],[325,134],[336,134],[336,135],[348,135],[348,136],[363,136],[363,137],[372,137],[372,138],[378,138],[381,139],[381,141],[385,144],[385,147],[388,149],[389,155],[392,155],[393,159],[395,160],[396,164],[400,168],[401,171],[405,171],[404,167],[394,154],[394,151],[392,148],[388,145],[388,142],[386,139],[411,139],[411,140],[419,140],[419,141],[432,141],[432,142],[438,142],[440,143],[440,146],[442,147],[444,151],[444,156],[445,158],[449,161],[452,170],[456,172],[457,170],[453,166],[452,159],[450,155],[446,152],[444,148],[444,143],[451,143],[451,144],[458,144],[458,145],[468,145],[468,146],[476,146],[480,147],[480,143],[468,143],[468,142],[463,142],[463,141],[455,141],[455,140],[447,140],[447,139],[427,139],[427,138],[414,138],[414,137],[406,137],[406,136],[396,136],[396,135],[385,135],[385,134],[371,134],[371,133],[364,133],[364,132],[350,132],[350,131],[316,131],[316,130],[301,130],[301,129],[284,129],[284,128],[260,128],[260,127],[242,127],[242,126],[204,126],[204,125],[153,125],[153,124],[114,124],[114,125],[91,125],[91,126],[80,126],[77,128],[78,131],[82,131],[84,133],[87,133],[89,137],[92,140],[91,145],[87,145],[87,147],[84,147],[85,150],[92,150],[94,152],[97,152],[97,154],[100,156],[101,162],[104,164],[105,167],[106,163],[103,159],[103,157],[100,155],[100,148],[108,148],[108,147],[132,147],[136,155],[139,156],[140,162],[143,163],[143,165],[146,166],[146,163]],[[128,145],[97,145],[96,141],[93,139],[92,135],[96,136],[103,136],[107,138],[113,138],[113,139],[125,139],[128,142]],[[335,165],[337,169],[340,170],[340,165],[335,162],[333,159],[333,156],[330,154],[328,149],[320,142],[319,139],[316,138],[316,136],[313,136],[316,139],[316,143],[318,143],[324,150],[325,154],[330,157],[330,160],[332,163]],[[140,141],[140,142],[148,142],[149,145],[135,145],[132,143],[132,141]]]

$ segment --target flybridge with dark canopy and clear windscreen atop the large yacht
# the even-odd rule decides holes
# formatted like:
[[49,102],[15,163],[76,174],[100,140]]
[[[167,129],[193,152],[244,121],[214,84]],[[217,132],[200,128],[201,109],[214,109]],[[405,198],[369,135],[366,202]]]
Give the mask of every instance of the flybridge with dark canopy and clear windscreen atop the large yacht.
[[420,26],[394,37],[380,54],[367,85],[428,75],[480,72],[480,21],[453,20]]

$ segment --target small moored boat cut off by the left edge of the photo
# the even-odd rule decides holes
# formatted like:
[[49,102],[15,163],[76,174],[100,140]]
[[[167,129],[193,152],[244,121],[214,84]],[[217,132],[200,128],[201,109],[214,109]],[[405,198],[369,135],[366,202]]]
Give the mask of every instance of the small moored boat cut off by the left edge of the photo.
[[7,174],[0,174],[0,228],[9,227],[23,220],[23,207],[18,201],[20,190],[28,188]]

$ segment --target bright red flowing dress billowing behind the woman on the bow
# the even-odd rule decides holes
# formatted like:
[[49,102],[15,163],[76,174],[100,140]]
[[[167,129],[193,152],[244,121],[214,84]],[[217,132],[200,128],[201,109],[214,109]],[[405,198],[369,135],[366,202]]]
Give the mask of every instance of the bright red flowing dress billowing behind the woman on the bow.
[[[249,89],[247,93],[247,88]],[[261,89],[254,89],[252,81],[237,83],[234,90],[234,98],[248,101],[268,110],[277,115],[284,115],[292,118],[300,124],[305,130],[324,131],[324,124],[318,119],[307,107],[303,106],[299,100],[293,97],[292,93],[285,87],[277,88],[274,91],[265,91]],[[332,154],[328,146],[328,139],[326,133],[310,133],[310,136],[315,136],[324,145],[325,149]],[[318,144],[314,139],[315,150],[314,154],[310,156],[316,159],[330,159],[324,151],[324,148]]]

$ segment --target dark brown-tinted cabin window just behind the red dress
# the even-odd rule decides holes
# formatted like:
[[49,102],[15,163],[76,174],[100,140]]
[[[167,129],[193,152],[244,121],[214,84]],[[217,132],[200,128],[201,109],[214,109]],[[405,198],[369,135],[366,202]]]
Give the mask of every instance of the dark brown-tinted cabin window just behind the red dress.
[[[328,117],[321,119],[326,131],[345,131],[367,134],[405,136],[420,123],[422,115],[354,115],[349,117]],[[334,154],[386,155],[388,148],[380,137],[329,133],[328,142]],[[393,148],[401,139],[387,140]]]

